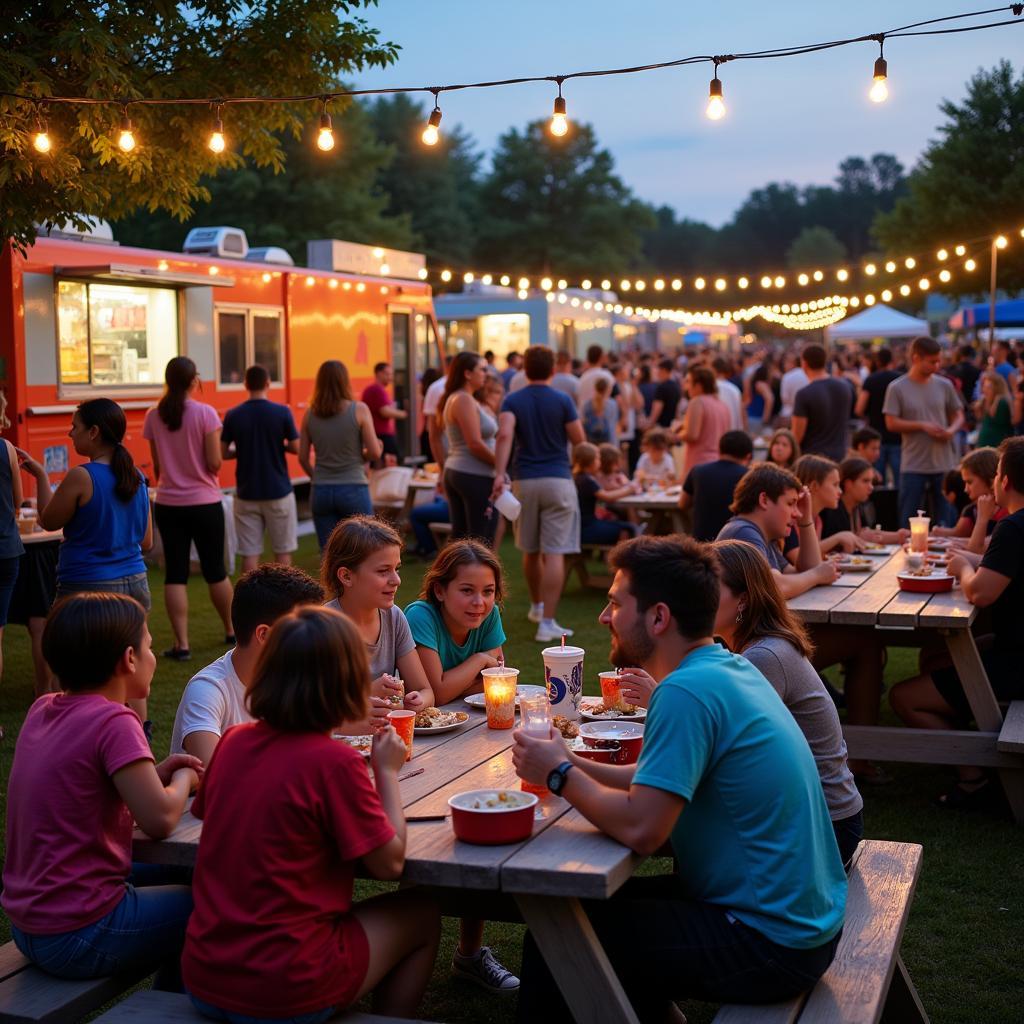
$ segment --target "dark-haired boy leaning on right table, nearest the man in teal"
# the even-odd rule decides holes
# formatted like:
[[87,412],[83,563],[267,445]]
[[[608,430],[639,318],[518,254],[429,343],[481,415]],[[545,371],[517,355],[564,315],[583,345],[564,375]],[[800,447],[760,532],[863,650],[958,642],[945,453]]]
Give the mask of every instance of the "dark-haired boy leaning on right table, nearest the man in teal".
[[[821,558],[810,492],[787,469],[760,463],[748,470],[736,484],[730,509],[733,516],[716,540],[753,544],[767,559],[783,597],[797,597],[838,578],[835,562]],[[794,524],[800,541],[796,565],[782,553]]]

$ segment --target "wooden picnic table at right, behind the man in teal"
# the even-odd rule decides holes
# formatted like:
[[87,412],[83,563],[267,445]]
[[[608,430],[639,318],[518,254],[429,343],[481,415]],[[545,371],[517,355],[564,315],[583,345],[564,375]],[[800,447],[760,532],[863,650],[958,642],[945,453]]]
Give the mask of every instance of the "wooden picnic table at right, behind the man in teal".
[[883,632],[887,644],[897,647],[921,647],[938,634],[956,667],[978,731],[846,725],[843,735],[849,755],[880,761],[995,768],[1014,818],[1018,824],[1024,823],[1024,757],[997,745],[1004,717],[971,631],[978,609],[958,586],[942,594],[900,590],[896,574],[902,570],[904,559],[897,548],[892,554],[879,556],[878,569],[860,579],[856,587],[815,587],[792,598],[790,608],[811,627],[812,633],[815,624],[873,627]]

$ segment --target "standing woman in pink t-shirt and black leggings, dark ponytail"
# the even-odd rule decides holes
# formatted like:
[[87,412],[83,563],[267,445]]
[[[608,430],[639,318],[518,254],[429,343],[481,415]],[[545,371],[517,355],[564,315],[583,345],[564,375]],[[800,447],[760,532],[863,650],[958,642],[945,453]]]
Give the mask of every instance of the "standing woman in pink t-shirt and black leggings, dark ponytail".
[[176,355],[164,371],[166,388],[156,409],[145,414],[142,436],[153,454],[157,497],[153,517],[164,546],[164,605],[174,631],[174,646],[164,657],[187,662],[188,566],[191,546],[199,553],[210,600],[224,624],[224,643],[231,634],[231,581],[224,565],[224,508],[221,505],[220,417],[189,395],[199,387],[199,371],[185,355]]

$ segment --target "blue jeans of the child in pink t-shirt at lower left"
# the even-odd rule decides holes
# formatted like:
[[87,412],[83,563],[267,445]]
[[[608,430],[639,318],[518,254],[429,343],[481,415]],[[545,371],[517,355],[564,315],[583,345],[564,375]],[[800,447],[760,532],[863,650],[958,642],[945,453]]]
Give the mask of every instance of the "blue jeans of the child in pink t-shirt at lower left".
[[133,864],[124,898],[99,921],[59,935],[29,935],[11,926],[11,935],[36,967],[57,978],[159,968],[154,987],[181,991],[190,881],[189,868]]

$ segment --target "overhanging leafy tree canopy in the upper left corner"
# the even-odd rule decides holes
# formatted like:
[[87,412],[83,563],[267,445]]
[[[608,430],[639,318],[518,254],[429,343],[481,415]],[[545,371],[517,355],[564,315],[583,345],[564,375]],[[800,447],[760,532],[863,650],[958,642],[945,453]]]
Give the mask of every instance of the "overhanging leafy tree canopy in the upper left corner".
[[[207,148],[213,112],[183,105],[130,106],[139,144],[123,154],[115,138],[121,104],[329,91],[345,74],[394,59],[396,47],[352,14],[374,2],[12,6],[0,26],[0,91],[33,98],[0,96],[0,237],[27,245],[36,222],[116,219],[139,207],[185,217],[210,199],[203,175],[237,170],[244,158],[281,169],[282,138],[301,133],[314,114],[309,103],[224,108],[228,147],[219,157]],[[53,95],[102,102],[44,102]],[[32,144],[41,117],[55,143],[48,154]]]

